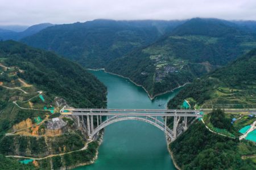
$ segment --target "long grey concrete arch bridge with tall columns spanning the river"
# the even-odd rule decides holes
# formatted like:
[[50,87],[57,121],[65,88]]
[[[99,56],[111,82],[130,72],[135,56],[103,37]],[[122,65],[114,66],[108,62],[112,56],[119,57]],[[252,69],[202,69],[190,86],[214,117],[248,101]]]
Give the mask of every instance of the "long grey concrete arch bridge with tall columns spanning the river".
[[[112,123],[126,120],[136,120],[150,123],[162,130],[168,140],[175,140],[177,125],[183,118],[184,129],[187,129],[187,118],[200,118],[199,110],[169,110],[169,109],[68,109],[65,106],[60,110],[63,115],[76,117],[77,124],[85,128],[92,139],[102,128]],[[86,117],[86,120],[84,120]],[[164,117],[163,119],[161,119]],[[174,117],[174,128],[167,126],[167,117]],[[96,123],[97,121],[97,123]],[[86,122],[86,123],[85,123]],[[86,124],[86,125],[85,125]]]

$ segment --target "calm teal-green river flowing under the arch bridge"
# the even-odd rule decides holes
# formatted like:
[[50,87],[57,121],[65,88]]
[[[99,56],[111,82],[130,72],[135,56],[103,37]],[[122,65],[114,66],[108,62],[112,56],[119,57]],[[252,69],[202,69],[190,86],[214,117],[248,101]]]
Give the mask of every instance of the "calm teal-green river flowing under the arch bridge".
[[[109,109],[165,109],[179,89],[154,100],[126,78],[90,71],[108,88]],[[159,106],[161,105],[161,106]],[[103,142],[94,164],[76,170],[176,169],[167,150],[164,132],[146,122],[121,121],[105,128]]]

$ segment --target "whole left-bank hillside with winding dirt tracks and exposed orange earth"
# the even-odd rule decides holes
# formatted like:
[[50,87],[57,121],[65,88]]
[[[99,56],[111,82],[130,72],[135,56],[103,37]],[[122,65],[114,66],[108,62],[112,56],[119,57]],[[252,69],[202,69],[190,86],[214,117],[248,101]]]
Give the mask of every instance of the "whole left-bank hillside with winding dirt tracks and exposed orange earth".
[[[86,69],[55,53],[0,42],[0,169],[51,169],[64,167],[64,162],[65,167],[76,167],[91,161],[98,142],[82,150],[86,133],[76,119],[60,115],[64,105],[106,107],[106,87]],[[56,163],[59,154],[68,159]],[[28,165],[18,162],[26,157],[46,158]]]

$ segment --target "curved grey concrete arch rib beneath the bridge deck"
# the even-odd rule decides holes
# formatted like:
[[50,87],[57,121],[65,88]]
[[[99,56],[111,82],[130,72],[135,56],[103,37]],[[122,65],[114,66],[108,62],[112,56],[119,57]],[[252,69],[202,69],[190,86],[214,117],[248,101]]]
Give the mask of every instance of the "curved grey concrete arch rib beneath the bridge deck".
[[135,121],[142,121],[142,122],[150,123],[151,125],[158,127],[160,130],[162,130],[167,135],[167,137],[170,138],[171,140],[175,139],[174,133],[172,132],[172,130],[170,128],[165,126],[165,124],[163,122],[159,121],[157,118],[150,117],[150,116],[146,116],[146,117],[113,116],[113,117],[107,119],[106,121],[102,122],[96,128],[94,128],[89,136],[91,138],[93,138],[93,136],[96,135],[102,128],[104,128],[108,125],[111,125],[115,122],[126,121],[126,120],[135,120]]

